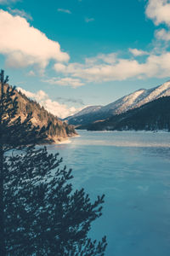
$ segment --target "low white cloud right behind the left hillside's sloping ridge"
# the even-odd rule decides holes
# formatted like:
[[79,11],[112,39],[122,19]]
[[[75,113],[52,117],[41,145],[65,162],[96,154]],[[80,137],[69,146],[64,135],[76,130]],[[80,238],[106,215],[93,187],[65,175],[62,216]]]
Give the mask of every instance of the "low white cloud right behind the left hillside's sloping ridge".
[[[37,93],[33,93],[29,90],[24,90],[20,87],[17,88],[27,97],[37,101],[43,106],[49,113],[53,113],[55,116],[64,119],[67,116],[70,116],[74,113],[79,112],[82,108],[71,107],[68,108],[65,104],[60,104],[59,102],[52,101],[48,94],[43,90],[38,90]],[[84,108],[84,107],[83,107]]]

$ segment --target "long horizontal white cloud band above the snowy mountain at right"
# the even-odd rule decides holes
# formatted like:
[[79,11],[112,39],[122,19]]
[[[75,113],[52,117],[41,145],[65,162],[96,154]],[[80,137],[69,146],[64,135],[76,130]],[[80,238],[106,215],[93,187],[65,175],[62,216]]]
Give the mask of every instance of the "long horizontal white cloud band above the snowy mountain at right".
[[[152,54],[144,62],[116,58],[113,63],[85,60],[84,64],[70,63],[60,69],[60,73],[72,79],[83,79],[87,82],[105,82],[125,79],[163,78],[170,75],[170,52],[160,55]],[[105,60],[105,58],[104,58]],[[55,68],[59,72],[58,68]]]

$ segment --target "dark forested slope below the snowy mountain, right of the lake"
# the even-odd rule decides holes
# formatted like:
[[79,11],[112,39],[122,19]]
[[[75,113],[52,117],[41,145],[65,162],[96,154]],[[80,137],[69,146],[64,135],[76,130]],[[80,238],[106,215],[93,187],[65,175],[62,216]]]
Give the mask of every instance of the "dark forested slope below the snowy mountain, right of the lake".
[[161,97],[144,104],[140,108],[114,115],[94,124],[82,125],[81,128],[89,131],[170,131],[170,96]]

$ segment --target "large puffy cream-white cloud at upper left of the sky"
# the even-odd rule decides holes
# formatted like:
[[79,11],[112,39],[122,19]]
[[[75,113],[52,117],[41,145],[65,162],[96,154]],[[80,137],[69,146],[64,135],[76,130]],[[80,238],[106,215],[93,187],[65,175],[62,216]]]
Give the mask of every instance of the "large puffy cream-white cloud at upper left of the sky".
[[0,54],[6,56],[8,67],[37,64],[45,68],[50,60],[68,61],[69,55],[25,18],[0,10]]

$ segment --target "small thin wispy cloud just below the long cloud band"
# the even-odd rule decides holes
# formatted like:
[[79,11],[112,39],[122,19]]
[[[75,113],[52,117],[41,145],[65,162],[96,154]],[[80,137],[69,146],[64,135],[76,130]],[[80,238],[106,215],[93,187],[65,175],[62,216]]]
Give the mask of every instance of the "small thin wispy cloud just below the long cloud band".
[[48,83],[48,84],[58,84],[61,86],[71,86],[73,88],[77,88],[79,86],[84,85],[80,79],[73,79],[73,78],[62,78],[62,79],[48,79],[43,80],[42,82]]

